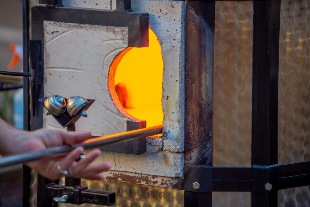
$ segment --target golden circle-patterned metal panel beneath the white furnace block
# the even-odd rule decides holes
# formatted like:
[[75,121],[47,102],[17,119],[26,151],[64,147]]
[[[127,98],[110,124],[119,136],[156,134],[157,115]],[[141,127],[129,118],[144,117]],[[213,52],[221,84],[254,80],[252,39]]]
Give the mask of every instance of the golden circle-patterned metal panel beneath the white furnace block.
[[[62,182],[64,182],[62,180]],[[81,180],[88,188],[114,191],[116,193],[115,207],[182,207],[184,206],[184,191],[173,188],[153,187],[117,181]],[[59,204],[59,207],[73,207],[72,204]],[[95,207],[94,204],[82,204],[82,207]],[[99,205],[98,205],[99,206]]]

